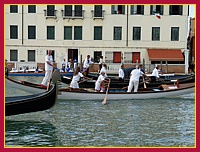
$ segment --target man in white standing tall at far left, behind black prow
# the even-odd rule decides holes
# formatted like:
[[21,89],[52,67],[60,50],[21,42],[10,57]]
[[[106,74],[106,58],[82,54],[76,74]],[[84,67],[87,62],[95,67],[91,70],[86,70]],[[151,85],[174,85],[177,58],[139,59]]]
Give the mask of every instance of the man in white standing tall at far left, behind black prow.
[[45,57],[45,76],[42,80],[42,85],[47,85],[47,82],[50,81],[51,73],[53,70],[53,57],[51,55],[51,50],[48,50],[48,54]]

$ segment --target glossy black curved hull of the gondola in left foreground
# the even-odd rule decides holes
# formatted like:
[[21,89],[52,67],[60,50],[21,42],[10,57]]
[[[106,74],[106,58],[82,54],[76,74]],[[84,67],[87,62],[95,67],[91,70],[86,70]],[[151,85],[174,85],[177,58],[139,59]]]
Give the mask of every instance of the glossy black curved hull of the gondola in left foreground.
[[43,93],[5,97],[5,115],[18,115],[51,108],[56,102],[56,88],[56,85],[52,85],[49,91],[43,90]]

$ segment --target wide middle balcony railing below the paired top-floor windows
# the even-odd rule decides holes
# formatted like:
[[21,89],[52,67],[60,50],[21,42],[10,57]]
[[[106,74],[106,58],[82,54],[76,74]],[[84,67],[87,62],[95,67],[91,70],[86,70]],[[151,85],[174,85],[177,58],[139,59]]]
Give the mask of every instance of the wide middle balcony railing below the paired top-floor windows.
[[63,19],[83,19],[85,10],[61,10]]

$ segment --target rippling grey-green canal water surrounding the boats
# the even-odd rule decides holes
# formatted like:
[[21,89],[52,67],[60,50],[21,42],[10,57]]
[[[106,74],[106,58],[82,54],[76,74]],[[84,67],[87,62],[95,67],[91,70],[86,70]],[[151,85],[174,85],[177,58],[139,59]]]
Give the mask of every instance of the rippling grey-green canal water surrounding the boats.
[[[12,78],[40,83],[43,77]],[[19,91],[6,88],[6,94]],[[107,105],[100,100],[57,99],[49,110],[6,117],[5,146],[194,147],[194,96],[107,99]]]

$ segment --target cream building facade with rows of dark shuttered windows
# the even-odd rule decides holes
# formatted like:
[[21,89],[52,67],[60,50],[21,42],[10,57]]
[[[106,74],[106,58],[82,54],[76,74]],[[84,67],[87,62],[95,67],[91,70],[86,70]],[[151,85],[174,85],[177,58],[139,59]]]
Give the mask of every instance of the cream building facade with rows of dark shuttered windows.
[[58,68],[90,54],[108,64],[184,64],[188,5],[5,5],[5,58],[15,68]]

